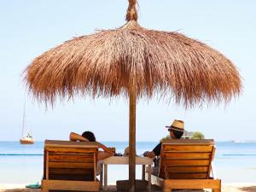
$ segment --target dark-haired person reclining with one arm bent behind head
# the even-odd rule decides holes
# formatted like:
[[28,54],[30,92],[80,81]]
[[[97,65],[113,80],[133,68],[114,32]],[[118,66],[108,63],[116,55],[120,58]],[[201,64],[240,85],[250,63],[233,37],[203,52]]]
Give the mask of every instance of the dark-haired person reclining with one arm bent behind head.
[[102,148],[103,151],[98,152],[97,170],[96,170],[97,175],[99,175],[102,172],[101,161],[114,155],[112,149],[107,148],[102,143],[96,142],[96,137],[94,133],[91,131],[84,131],[82,135],[79,135],[75,132],[71,132],[69,134],[69,140],[74,142],[95,142],[98,145],[98,148]]

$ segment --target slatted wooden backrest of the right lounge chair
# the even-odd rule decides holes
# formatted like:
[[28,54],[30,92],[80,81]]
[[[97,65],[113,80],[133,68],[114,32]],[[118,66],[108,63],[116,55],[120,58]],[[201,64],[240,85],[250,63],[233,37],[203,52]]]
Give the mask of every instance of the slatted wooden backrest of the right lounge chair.
[[209,178],[215,147],[212,139],[163,140],[159,177]]

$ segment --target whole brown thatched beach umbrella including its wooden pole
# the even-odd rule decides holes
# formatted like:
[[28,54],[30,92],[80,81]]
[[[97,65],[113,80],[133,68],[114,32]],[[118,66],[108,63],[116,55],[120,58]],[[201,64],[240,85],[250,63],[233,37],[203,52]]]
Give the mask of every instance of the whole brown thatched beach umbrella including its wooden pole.
[[136,0],[129,0],[126,20],[117,29],[73,38],[39,55],[26,68],[26,81],[34,96],[51,103],[76,94],[130,98],[134,190],[137,100],[158,94],[185,108],[229,102],[240,93],[241,79],[232,62],[207,44],[139,26]]

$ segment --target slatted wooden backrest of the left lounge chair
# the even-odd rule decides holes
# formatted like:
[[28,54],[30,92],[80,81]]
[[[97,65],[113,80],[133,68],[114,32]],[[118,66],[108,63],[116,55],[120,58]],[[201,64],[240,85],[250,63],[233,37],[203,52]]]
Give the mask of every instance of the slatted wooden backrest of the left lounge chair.
[[89,142],[44,142],[44,179],[96,181],[98,146]]

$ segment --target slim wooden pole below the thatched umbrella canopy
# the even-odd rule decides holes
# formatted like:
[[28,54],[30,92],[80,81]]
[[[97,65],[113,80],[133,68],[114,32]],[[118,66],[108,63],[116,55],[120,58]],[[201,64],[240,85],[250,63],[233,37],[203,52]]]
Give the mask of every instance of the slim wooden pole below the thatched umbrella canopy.
[[129,111],[129,182],[130,192],[135,192],[136,179],[136,91],[130,89],[130,111]]

